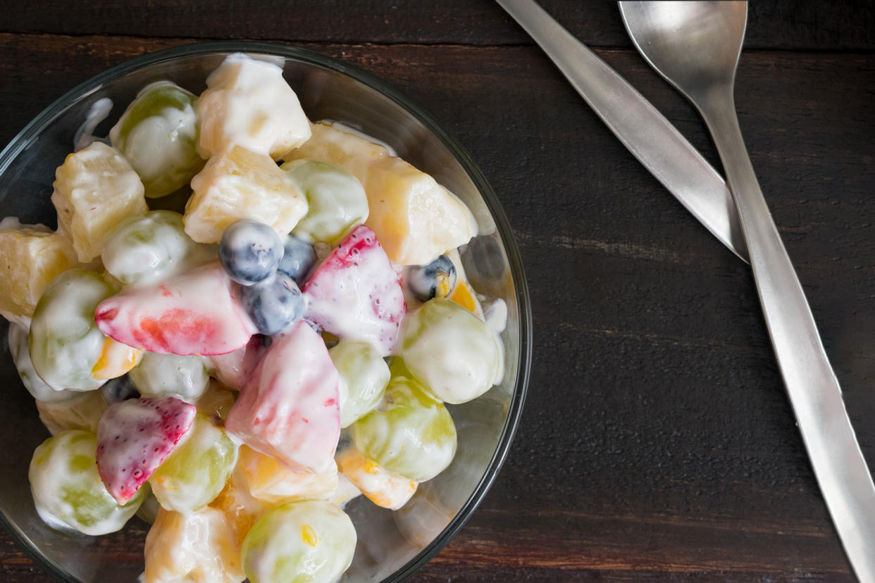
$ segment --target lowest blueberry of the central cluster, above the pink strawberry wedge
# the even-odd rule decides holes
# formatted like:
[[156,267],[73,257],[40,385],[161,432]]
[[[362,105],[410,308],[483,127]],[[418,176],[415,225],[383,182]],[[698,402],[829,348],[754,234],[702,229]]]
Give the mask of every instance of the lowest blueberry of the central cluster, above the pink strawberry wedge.
[[279,334],[304,316],[301,290],[295,280],[281,272],[267,281],[241,288],[240,299],[261,334]]

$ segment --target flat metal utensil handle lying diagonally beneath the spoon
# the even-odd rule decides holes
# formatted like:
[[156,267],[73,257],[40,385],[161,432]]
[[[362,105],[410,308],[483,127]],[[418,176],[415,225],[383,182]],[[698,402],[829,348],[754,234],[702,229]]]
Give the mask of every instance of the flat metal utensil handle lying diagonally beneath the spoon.
[[747,250],[722,177],[649,101],[532,0],[497,0],[644,167],[742,260]]

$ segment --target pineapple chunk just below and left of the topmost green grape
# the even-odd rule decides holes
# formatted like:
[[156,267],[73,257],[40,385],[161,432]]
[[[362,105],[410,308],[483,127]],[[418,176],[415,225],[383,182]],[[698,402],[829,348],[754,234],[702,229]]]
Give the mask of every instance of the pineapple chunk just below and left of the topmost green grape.
[[69,233],[82,263],[101,254],[103,235],[119,221],[149,210],[137,172],[102,142],[66,156],[55,172],[52,204],[58,230]]

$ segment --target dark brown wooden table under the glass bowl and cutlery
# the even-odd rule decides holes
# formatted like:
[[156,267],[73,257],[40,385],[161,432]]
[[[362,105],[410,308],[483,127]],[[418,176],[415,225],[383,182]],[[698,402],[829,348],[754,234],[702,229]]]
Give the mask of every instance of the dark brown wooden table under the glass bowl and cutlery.
[[[544,0],[712,163],[614,3]],[[486,0],[61,0],[0,17],[0,142],[75,84],[200,39],[304,46],[395,84],[465,144],[521,246],[534,313],[511,454],[418,581],[853,580],[748,269]],[[875,467],[875,7],[760,0],[742,129]],[[0,533],[0,579],[48,576]],[[113,582],[114,583],[114,582]]]

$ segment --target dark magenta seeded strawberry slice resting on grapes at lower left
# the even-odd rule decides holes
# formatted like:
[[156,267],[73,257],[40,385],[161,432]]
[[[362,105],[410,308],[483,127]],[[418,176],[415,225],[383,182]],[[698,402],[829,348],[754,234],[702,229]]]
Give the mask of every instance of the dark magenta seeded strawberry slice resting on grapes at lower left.
[[97,424],[97,472],[109,494],[127,503],[192,427],[197,409],[175,397],[110,405]]

